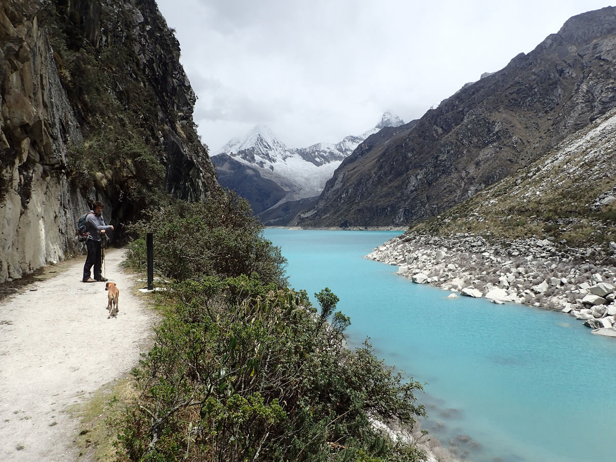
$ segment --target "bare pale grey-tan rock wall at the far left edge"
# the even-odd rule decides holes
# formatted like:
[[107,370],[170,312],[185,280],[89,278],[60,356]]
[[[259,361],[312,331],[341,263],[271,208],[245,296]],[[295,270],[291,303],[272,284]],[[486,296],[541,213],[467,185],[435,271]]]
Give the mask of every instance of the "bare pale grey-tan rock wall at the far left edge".
[[36,15],[40,2],[0,7],[0,282],[77,249],[86,201],[68,187],[67,143],[81,132]]

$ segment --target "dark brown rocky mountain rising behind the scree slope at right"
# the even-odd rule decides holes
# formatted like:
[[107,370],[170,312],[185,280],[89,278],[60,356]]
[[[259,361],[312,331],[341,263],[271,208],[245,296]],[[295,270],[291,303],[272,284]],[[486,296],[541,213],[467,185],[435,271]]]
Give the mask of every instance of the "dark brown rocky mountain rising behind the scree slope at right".
[[616,9],[570,18],[389,139],[342,161],[292,224],[408,225],[524,168],[616,107]]

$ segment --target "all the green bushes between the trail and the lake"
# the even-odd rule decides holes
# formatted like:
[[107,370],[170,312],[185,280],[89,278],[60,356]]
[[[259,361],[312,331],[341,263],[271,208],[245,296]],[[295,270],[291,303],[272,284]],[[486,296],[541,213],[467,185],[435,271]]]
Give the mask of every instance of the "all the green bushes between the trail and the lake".
[[[338,297],[291,290],[280,251],[262,237],[245,200],[166,208],[150,223],[166,317],[134,370],[124,460],[424,460],[371,419],[412,426],[421,385],[375,357],[349,351]],[[143,262],[143,241],[131,261]]]

